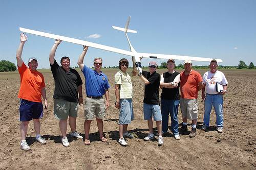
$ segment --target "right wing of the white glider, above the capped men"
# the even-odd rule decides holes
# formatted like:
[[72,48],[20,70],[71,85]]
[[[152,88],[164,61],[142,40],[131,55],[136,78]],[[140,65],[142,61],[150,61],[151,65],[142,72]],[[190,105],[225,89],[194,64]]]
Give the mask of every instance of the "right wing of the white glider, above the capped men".
[[[179,55],[166,55],[166,54],[150,54],[150,53],[138,53],[143,58],[159,58],[159,59],[174,59],[174,60],[192,60],[192,61],[208,61],[210,62],[213,58],[203,57],[191,57],[191,56],[179,56]],[[222,62],[221,59],[216,59],[217,62]]]

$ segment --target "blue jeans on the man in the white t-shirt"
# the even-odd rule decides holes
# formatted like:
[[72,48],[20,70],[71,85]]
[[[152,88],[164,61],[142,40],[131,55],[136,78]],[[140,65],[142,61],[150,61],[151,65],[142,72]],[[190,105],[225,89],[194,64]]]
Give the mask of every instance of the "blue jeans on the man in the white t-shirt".
[[204,101],[204,124],[209,126],[210,122],[210,112],[212,105],[214,105],[215,113],[216,113],[216,124],[217,126],[223,127],[223,97],[222,94],[210,95],[206,94],[206,98]]

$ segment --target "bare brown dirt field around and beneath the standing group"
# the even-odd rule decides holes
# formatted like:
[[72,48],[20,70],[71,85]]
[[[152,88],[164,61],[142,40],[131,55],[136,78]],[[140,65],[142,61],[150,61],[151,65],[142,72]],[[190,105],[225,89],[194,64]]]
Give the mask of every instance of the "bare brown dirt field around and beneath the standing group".
[[[166,70],[159,69],[157,72],[162,74]],[[218,134],[215,130],[215,112],[210,117],[210,128],[206,132],[201,130],[204,104],[200,91],[196,137],[189,138],[187,134],[181,134],[181,139],[175,140],[168,130],[161,147],[158,147],[157,140],[143,141],[148,133],[142,108],[144,85],[138,76],[133,77],[135,120],[128,126],[128,130],[136,137],[127,139],[129,145],[122,147],[117,142],[119,111],[114,107],[114,75],[117,69],[102,69],[111,85],[111,107],[106,111],[103,129],[109,141],[103,143],[99,140],[96,120],[93,120],[90,130],[91,145],[84,145],[83,140],[72,138],[68,127],[71,144],[69,148],[63,147],[59,122],[53,116],[54,80],[51,71],[39,71],[45,77],[49,104],[49,109],[40,119],[41,136],[46,139],[47,144],[35,142],[31,122],[26,138],[30,151],[20,150],[17,98],[19,74],[17,71],[0,72],[0,169],[256,169],[256,70],[221,70],[229,82],[228,91],[224,95],[223,133]],[[203,75],[206,70],[197,71]],[[81,72],[80,75],[84,82]],[[84,85],[83,96],[86,96]],[[84,106],[80,106],[77,131],[84,137],[83,110]],[[178,117],[179,123],[182,123],[180,111]],[[188,124],[190,130],[191,121]],[[155,123],[154,133],[157,133]]]

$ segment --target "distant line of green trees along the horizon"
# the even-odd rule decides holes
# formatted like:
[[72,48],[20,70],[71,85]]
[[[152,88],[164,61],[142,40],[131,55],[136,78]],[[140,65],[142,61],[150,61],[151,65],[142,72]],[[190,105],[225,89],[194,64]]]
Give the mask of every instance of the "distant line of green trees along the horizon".
[[[72,68],[79,68],[78,66],[72,67]],[[109,66],[109,67],[102,67],[102,68],[119,68],[119,66]],[[132,67],[129,67],[132,68]],[[143,66],[142,68],[148,68],[147,66]],[[162,62],[158,68],[167,68],[167,63]],[[209,65],[193,65],[193,69],[209,69]],[[176,69],[184,69],[183,64],[176,65]],[[225,66],[225,65],[219,65],[218,69],[256,69],[254,66],[253,62],[251,62],[248,66],[245,64],[244,61],[240,60],[238,66]],[[7,61],[7,60],[2,60],[0,61],[0,72],[3,71],[15,71],[17,70],[17,67],[14,63]]]

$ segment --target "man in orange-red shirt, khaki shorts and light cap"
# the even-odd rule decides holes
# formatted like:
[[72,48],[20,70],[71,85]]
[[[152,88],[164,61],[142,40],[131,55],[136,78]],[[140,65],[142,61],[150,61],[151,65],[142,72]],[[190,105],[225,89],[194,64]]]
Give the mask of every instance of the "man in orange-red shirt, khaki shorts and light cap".
[[181,72],[180,81],[180,109],[183,124],[180,132],[187,131],[187,119],[192,120],[192,130],[189,137],[196,136],[197,114],[198,114],[198,91],[203,88],[203,79],[199,72],[191,69],[191,60],[184,61],[185,70]]

